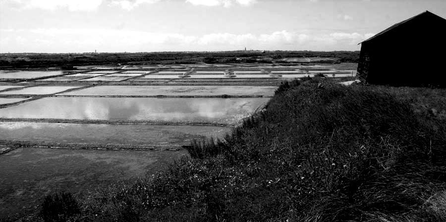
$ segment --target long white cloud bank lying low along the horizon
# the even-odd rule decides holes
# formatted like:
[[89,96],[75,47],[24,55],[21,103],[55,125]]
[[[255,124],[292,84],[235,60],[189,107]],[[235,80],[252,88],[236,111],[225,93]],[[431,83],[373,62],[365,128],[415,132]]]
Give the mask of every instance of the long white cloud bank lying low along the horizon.
[[298,33],[286,30],[266,34],[210,33],[201,36],[116,29],[0,30],[2,52],[156,52],[225,51],[247,47],[262,50],[358,50],[373,34]]

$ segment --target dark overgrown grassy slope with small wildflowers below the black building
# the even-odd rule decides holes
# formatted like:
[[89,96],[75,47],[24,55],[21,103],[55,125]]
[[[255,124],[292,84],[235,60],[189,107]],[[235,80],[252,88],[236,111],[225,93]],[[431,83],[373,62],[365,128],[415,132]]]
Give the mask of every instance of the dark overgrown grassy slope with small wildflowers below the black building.
[[282,85],[226,142],[196,141],[195,159],[92,191],[80,218],[446,220],[446,91],[314,82]]

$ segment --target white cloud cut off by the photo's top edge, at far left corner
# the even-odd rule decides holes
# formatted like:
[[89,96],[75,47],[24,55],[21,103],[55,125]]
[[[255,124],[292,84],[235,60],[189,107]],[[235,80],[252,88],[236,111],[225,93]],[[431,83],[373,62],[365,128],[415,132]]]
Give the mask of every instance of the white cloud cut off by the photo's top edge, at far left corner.
[[94,11],[104,2],[109,6],[119,6],[131,10],[143,3],[156,3],[160,0],[1,0],[1,7],[16,9],[39,8],[56,10],[66,8],[69,11]]

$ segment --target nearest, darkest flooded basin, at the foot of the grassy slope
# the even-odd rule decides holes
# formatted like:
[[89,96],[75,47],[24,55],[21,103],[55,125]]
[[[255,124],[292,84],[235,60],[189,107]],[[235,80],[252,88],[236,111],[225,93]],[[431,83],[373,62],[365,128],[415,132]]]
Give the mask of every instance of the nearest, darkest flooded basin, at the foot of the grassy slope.
[[99,151],[19,148],[0,156],[0,221],[37,213],[48,194],[151,175],[186,151]]

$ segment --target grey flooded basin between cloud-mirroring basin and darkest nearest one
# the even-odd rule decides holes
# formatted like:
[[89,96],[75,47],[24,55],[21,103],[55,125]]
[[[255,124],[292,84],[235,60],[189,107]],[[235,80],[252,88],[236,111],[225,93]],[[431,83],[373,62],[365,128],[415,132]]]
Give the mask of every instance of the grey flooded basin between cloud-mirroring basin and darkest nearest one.
[[[223,138],[231,127],[0,122],[1,140],[37,144],[118,146],[131,149],[188,145],[193,138]],[[78,146],[75,146],[78,147]]]

